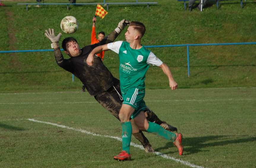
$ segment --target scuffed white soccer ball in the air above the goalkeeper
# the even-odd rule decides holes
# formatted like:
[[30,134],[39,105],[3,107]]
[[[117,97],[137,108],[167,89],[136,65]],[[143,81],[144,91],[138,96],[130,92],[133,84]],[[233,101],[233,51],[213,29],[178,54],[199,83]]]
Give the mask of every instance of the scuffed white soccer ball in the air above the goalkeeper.
[[61,20],[61,30],[65,33],[72,34],[78,29],[78,22],[74,16],[66,16]]

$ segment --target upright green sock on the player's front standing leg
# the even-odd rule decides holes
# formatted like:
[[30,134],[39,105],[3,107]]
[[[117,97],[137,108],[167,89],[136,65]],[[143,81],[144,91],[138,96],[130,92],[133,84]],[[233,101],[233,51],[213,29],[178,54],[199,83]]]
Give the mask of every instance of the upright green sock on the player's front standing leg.
[[126,151],[130,154],[130,143],[132,135],[131,122],[123,122],[122,124],[122,147],[123,151]]

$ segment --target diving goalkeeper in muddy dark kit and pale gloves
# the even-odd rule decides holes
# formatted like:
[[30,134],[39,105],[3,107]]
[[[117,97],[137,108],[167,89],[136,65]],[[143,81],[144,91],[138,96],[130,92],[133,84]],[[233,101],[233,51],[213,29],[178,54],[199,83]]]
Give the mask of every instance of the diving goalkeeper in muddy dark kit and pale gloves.
[[[79,47],[75,38],[65,38],[62,41],[62,48],[64,52],[71,57],[69,59],[63,58],[59,47],[58,42],[61,38],[61,33],[55,36],[54,29],[45,30],[44,33],[52,42],[51,47],[54,49],[54,55],[58,66],[79,78],[83,85],[85,85],[88,93],[91,96],[94,96],[94,98],[117,119],[119,119],[118,114],[123,101],[120,91],[120,81],[113,77],[100,57],[96,55],[94,56],[94,64],[91,67],[86,63],[86,59],[89,53],[97,46],[113,42],[128,23],[128,20],[120,21],[118,27],[102,41],[83,48]],[[148,121],[155,122],[166,130],[177,131],[176,127],[172,127],[166,122],[161,121],[150,109],[145,110],[145,115]],[[135,123],[132,123],[132,128],[132,134],[141,142],[145,152],[153,152],[154,150],[149,141],[143,135],[142,131],[136,127]]]

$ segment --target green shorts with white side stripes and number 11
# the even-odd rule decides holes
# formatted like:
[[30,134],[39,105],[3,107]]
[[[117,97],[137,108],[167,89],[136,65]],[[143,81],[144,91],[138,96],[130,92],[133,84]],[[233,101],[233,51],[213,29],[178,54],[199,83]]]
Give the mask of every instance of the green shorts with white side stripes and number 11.
[[143,100],[145,96],[145,91],[139,90],[138,88],[130,88],[123,96],[123,104],[128,104],[132,106],[135,111],[131,115],[131,119],[135,118],[139,113],[147,109],[146,103]]

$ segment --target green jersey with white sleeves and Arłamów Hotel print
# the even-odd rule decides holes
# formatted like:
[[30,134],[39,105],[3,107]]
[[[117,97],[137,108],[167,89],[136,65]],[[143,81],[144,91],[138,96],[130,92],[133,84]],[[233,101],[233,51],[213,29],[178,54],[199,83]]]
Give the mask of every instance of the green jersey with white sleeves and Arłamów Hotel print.
[[160,66],[163,62],[144,46],[132,49],[126,41],[108,44],[108,49],[119,55],[119,79],[122,94],[129,88],[145,90],[145,75],[149,65]]

